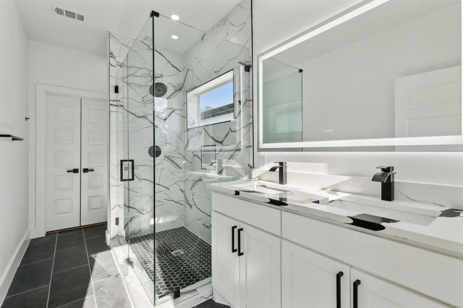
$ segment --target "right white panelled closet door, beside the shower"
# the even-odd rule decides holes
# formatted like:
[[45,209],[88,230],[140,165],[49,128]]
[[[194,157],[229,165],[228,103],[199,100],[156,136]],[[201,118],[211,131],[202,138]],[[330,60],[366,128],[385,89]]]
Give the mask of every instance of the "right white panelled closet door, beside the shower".
[[82,99],[81,225],[107,220],[108,105]]

